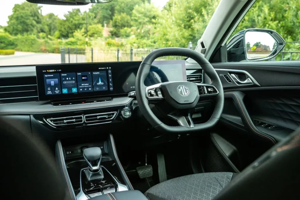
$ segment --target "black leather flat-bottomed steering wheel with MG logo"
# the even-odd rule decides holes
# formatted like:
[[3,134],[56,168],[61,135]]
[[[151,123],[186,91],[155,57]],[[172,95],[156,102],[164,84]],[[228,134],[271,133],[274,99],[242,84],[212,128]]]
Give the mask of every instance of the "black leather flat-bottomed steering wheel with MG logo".
[[[168,55],[185,56],[195,60],[211,79],[211,84],[172,81],[146,87],[144,81],[149,74],[152,62],[158,57]],[[137,72],[135,89],[141,112],[155,129],[162,132],[190,133],[206,130],[217,124],[223,112],[224,92],[217,72],[201,54],[191,49],[162,48],[149,53],[146,58],[144,58]],[[194,124],[190,112],[195,109],[199,99],[202,98],[215,98],[215,108],[208,121],[202,124]],[[179,126],[168,126],[164,124],[150,109],[149,103],[158,104],[163,101],[167,102],[167,104],[177,111],[177,113],[171,113],[168,116],[175,119],[179,123]]]

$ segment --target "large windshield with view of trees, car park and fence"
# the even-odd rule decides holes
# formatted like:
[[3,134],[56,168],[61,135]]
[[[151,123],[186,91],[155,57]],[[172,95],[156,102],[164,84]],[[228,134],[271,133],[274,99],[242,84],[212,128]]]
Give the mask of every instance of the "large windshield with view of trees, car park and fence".
[[[154,49],[195,49],[219,0],[113,0],[0,7],[0,66],[141,61]],[[168,56],[160,59],[182,59]]]

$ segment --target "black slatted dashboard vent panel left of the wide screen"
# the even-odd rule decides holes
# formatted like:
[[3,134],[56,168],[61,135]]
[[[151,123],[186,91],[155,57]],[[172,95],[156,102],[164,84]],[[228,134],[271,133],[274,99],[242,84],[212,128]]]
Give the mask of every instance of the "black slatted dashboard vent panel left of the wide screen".
[[0,78],[0,104],[38,101],[35,76]]

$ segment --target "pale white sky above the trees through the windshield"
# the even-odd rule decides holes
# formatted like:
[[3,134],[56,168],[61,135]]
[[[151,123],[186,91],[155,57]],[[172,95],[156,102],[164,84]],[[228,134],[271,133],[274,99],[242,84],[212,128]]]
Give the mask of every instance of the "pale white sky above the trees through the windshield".
[[[2,0],[1,0],[2,1]],[[0,25],[6,26],[8,21],[8,16],[12,14],[14,4],[23,3],[25,0],[5,0],[5,3],[0,6]],[[157,7],[163,7],[169,0],[151,0]],[[91,7],[91,4],[84,6],[57,6],[57,5],[46,5],[40,4],[42,7],[42,14],[54,13],[60,18],[64,18],[64,14],[73,8],[80,8],[81,12],[88,10]]]

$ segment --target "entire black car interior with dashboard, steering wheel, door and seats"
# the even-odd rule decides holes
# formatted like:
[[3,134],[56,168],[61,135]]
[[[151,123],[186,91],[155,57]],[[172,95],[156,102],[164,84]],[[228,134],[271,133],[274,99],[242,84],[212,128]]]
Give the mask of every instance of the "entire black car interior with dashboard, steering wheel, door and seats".
[[[285,46],[270,29],[228,40],[254,2],[221,0],[196,50],[160,48],[143,61],[0,67],[3,193],[299,199],[300,61],[270,61]],[[230,23],[217,22],[222,15]],[[259,34],[274,44],[266,56],[247,53],[247,41]],[[184,59],[158,60],[172,55]]]

